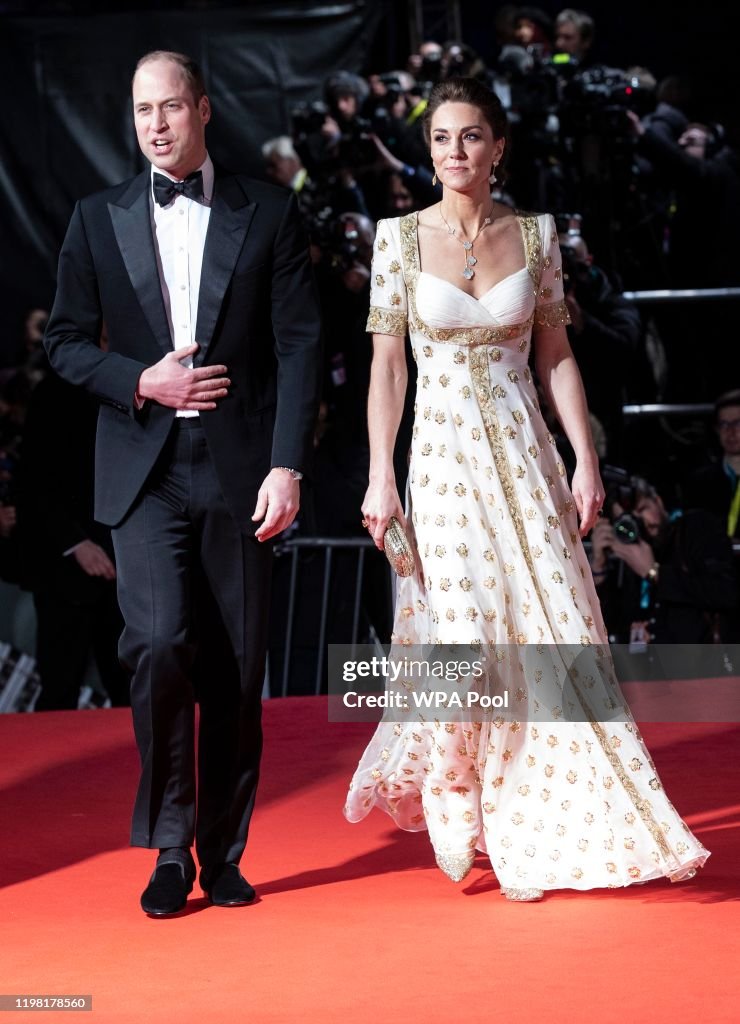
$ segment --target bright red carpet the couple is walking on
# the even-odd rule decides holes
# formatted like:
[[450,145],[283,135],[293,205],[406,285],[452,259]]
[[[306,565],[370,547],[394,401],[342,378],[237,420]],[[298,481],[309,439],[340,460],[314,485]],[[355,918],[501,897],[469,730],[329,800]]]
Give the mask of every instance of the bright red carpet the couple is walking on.
[[[426,834],[341,814],[371,726],[268,701],[245,873],[259,902],[150,921],[127,847],[124,711],[0,716],[0,993],[88,993],[96,1022],[724,1024],[740,1020],[740,729],[650,725],[712,851],[694,882],[507,903],[487,862],[455,887]],[[26,1019],[21,1012],[10,1020]],[[37,1017],[38,1019],[38,1017]],[[42,1021],[79,1020],[48,1012]]]

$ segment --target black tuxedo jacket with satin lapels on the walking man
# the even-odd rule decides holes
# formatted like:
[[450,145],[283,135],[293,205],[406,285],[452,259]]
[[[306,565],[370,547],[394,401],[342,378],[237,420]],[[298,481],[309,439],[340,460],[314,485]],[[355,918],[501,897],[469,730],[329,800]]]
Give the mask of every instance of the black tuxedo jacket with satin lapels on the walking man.
[[[45,337],[54,370],[102,402],[95,518],[110,526],[141,492],[175,415],[134,403],[141,372],[172,351],[150,202],[147,169],[77,204]],[[106,352],[96,344],[103,321]],[[318,401],[318,306],[292,194],[216,170],[195,340],[197,367],[228,368],[228,395],[201,419],[224,498],[252,534],[270,467],[308,468]]]

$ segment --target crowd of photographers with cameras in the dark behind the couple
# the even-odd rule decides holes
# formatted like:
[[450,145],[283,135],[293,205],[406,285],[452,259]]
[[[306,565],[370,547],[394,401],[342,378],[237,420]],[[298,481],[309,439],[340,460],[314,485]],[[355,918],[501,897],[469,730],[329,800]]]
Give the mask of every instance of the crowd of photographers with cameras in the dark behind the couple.
[[[727,388],[740,383],[740,360],[723,345],[729,307],[668,305],[647,316],[623,292],[740,286],[730,251],[740,228],[738,155],[710,117],[696,120],[679,78],[657,83],[647,69],[628,67],[628,54],[623,69],[599,63],[587,13],[568,8],[553,22],[538,8],[505,7],[495,30],[496,51],[485,59],[461,42],[428,40],[402,69],[365,78],[335,73],[320,100],[292,112],[290,134],[262,146],[265,175],[297,194],[324,322],[314,485],[295,528],[362,536],[375,223],[441,198],[421,118],[436,82],[472,75],[496,92],[509,117],[508,178],[495,198],[553,212],[558,223],[568,333],[608,490],[592,562],[610,635],[636,647],[735,642],[740,391]],[[57,399],[76,403],[46,373],[45,317],[29,312],[18,366],[0,377],[0,578],[34,595],[39,707],[76,706],[91,652],[114,702],[124,702],[115,668],[115,566],[110,539],[91,515],[95,411],[81,399],[79,417],[54,415]],[[410,353],[408,362],[412,375]],[[397,445],[399,485],[411,390]],[[714,402],[713,421],[703,432],[694,422],[688,434],[626,429],[622,406],[656,399]],[[70,451],[90,456],[76,460],[75,472]],[[368,567],[371,609],[385,607],[384,572],[380,562]],[[384,613],[369,613],[381,635],[389,626]],[[341,612],[333,617],[338,630],[348,628]]]

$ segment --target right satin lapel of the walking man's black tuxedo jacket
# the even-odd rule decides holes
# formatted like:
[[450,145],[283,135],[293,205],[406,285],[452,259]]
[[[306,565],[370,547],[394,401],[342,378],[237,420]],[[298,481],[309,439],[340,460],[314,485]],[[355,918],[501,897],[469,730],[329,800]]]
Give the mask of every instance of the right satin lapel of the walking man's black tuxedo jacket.
[[195,341],[201,348],[195,366],[203,362],[213,340],[223,297],[256,209],[257,204],[248,201],[234,178],[216,178],[198,296]]

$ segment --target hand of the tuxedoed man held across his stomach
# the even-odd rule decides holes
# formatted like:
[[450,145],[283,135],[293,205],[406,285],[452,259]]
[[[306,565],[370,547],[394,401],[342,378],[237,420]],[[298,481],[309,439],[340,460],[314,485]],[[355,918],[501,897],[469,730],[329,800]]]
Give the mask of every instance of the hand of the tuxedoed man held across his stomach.
[[228,394],[231,381],[225,377],[226,367],[201,367],[190,370],[182,366],[189,359],[199,345],[188,345],[168,352],[154,367],[149,367],[139,377],[137,394],[167,406],[169,409],[187,409],[205,412],[216,408],[218,398]]

